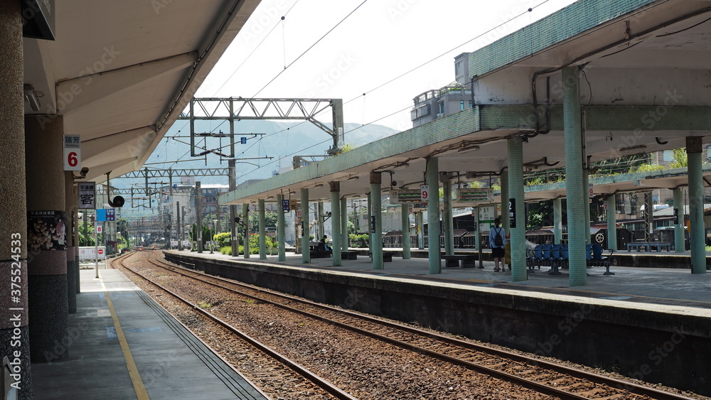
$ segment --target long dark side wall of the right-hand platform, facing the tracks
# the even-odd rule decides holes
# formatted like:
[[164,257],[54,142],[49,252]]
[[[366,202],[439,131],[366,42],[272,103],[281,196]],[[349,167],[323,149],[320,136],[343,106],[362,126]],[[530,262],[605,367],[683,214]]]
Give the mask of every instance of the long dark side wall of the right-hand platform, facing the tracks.
[[711,353],[711,324],[693,311],[669,314],[609,300],[270,264],[240,262],[235,268],[233,261],[171,252],[166,259],[313,301],[711,394],[711,357],[702,356]]

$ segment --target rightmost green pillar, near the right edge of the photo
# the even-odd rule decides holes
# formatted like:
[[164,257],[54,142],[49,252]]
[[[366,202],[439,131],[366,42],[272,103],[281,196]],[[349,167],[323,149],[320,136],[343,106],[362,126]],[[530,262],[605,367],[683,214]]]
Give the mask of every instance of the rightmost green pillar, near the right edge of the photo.
[[701,171],[702,137],[686,138],[689,173],[689,223],[691,232],[691,273],[706,272],[706,235],[704,227],[704,181]]

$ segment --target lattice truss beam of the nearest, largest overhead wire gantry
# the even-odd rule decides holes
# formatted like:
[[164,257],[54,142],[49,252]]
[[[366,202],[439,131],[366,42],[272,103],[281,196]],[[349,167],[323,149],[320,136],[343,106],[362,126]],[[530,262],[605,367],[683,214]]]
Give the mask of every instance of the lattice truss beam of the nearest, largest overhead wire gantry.
[[[331,108],[332,123],[324,123],[316,116]],[[328,153],[339,153],[343,146],[343,99],[245,99],[242,97],[201,97],[191,99],[187,112],[178,119],[190,121],[191,156],[197,157],[196,138],[206,137],[195,131],[197,120],[227,120],[230,122],[230,157],[235,156],[235,121],[242,119],[291,119],[309,121],[333,138]],[[221,134],[219,137],[225,137]],[[227,147],[224,146],[224,147]],[[210,152],[207,148],[205,151]],[[221,155],[221,154],[220,154]],[[222,156],[222,155],[221,155]]]

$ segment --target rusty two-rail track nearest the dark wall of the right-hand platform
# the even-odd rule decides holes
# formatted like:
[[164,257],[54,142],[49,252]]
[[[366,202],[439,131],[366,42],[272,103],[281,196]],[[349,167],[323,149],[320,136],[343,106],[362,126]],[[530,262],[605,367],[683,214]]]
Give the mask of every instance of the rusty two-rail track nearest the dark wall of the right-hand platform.
[[324,306],[216,276],[207,276],[198,271],[168,264],[159,260],[155,254],[152,257],[149,256],[147,261],[156,267],[196,279],[220,288],[220,290],[250,298],[252,301],[269,303],[292,313],[314,318],[323,323],[351,330],[360,335],[533,389],[538,393],[558,399],[690,399],[679,394],[632,384],[582,369],[574,369],[439,335],[409,325],[392,323],[380,318]]

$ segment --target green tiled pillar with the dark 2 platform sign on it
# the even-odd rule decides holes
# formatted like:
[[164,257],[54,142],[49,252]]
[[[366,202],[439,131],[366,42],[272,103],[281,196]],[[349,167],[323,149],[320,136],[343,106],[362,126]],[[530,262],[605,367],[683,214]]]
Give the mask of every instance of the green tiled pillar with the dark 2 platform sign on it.
[[[521,138],[508,139],[508,193],[515,200],[515,221],[509,220],[511,278],[514,282],[528,279],[526,267],[526,220],[523,202],[523,141]],[[508,214],[509,202],[502,199],[501,215]]]

